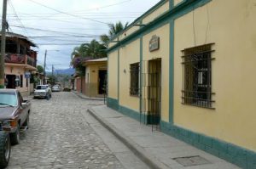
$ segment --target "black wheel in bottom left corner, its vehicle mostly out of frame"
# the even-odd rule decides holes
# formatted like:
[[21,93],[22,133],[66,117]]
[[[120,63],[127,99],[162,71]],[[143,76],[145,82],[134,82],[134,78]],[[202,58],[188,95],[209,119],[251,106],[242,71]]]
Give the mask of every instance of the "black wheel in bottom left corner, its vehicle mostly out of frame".
[[9,134],[0,132],[0,168],[5,168],[9,163],[11,152]]

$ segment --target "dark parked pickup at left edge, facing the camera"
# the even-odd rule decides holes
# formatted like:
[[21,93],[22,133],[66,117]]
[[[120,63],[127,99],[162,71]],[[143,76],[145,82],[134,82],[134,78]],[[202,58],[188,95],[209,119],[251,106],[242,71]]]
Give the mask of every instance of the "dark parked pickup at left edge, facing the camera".
[[0,89],[0,130],[9,133],[11,144],[19,144],[20,131],[28,129],[30,111],[31,102],[18,90]]

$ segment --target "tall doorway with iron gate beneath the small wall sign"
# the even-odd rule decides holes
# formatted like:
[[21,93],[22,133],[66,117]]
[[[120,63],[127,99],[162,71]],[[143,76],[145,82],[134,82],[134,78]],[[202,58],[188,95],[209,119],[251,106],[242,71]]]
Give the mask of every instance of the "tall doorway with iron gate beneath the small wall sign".
[[148,124],[159,125],[161,112],[161,59],[148,61]]

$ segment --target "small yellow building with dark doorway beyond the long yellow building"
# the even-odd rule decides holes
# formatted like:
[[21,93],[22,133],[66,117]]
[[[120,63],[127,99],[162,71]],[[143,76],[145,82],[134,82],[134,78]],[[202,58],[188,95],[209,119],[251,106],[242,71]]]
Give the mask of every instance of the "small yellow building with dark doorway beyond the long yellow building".
[[85,95],[90,98],[102,98],[107,85],[107,58],[84,61]]

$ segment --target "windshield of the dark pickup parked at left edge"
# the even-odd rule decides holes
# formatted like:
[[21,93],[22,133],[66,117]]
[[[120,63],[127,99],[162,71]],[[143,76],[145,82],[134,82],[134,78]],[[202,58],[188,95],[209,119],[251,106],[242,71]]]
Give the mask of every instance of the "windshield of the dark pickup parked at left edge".
[[17,97],[15,93],[0,92],[0,107],[5,107],[7,105],[16,106],[17,104]]

